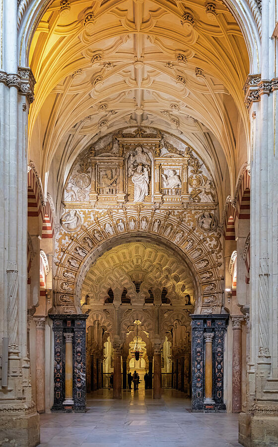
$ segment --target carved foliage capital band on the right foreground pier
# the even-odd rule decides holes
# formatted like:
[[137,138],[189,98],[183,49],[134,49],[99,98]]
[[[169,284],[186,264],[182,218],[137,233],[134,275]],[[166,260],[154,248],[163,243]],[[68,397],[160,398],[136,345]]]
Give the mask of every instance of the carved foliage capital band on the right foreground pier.
[[248,74],[244,87],[244,102],[247,110],[250,109],[252,102],[258,102],[263,94],[270,94],[278,89],[278,78],[261,79],[261,74]]

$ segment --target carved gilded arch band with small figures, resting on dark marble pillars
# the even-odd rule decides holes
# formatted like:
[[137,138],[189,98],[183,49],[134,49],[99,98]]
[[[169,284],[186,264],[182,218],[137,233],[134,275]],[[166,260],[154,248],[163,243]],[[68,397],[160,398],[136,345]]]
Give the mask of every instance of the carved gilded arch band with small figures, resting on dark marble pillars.
[[[81,313],[82,284],[93,263],[113,247],[127,242],[151,242],[171,249],[191,271],[195,285],[195,313],[221,311],[223,269],[221,233],[203,232],[200,211],[83,209],[74,234],[63,229],[56,238],[55,309],[57,313]],[[122,221],[119,227],[117,222]],[[133,224],[131,226],[131,220]],[[155,224],[159,222],[159,225]],[[107,229],[109,224],[109,231]],[[131,227],[133,229],[131,229]]]

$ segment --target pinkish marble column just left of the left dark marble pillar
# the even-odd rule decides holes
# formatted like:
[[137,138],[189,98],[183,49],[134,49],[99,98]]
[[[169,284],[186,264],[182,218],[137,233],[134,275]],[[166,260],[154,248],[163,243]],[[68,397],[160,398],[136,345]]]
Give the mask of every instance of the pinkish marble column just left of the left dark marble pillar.
[[45,413],[45,318],[36,322],[36,408]]

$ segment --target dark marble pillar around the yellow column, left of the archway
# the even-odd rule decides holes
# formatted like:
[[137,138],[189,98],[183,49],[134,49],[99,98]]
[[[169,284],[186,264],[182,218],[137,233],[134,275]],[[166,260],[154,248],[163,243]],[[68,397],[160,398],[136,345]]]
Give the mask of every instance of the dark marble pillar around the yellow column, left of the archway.
[[[86,408],[86,318],[83,314],[49,315],[54,332],[54,403],[53,412],[84,412]],[[64,404],[66,380],[66,341],[72,334],[72,403]],[[68,349],[68,356],[71,350]],[[68,359],[69,360],[69,359]],[[69,367],[69,364],[68,364]],[[68,368],[68,374],[70,368]],[[65,401],[66,402],[66,401]]]

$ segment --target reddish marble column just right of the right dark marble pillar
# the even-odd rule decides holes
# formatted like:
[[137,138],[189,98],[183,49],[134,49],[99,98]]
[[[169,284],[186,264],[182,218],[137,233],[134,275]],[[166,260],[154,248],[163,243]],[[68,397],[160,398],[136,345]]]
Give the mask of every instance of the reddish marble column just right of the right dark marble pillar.
[[241,411],[241,380],[242,380],[242,334],[243,317],[232,316],[233,325],[233,363],[232,363],[232,411]]

